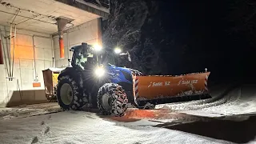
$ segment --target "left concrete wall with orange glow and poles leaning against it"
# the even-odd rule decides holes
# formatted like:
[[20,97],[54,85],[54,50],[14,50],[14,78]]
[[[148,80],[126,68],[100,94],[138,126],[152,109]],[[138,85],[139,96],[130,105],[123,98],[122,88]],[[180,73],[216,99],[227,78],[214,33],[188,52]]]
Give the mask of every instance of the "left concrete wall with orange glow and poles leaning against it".
[[[6,51],[6,40],[3,37],[10,35],[10,27],[6,26],[5,32],[5,27],[0,26],[0,30],[3,48]],[[12,39],[14,40],[14,38]],[[14,42],[12,42],[12,44],[13,43]],[[50,34],[17,30],[14,50],[13,81],[6,79],[8,76],[6,65],[0,65],[0,106],[6,106],[8,102],[9,105],[14,105],[14,103],[21,102],[21,99],[23,104],[30,104],[32,101],[46,102],[42,70],[52,65],[54,51],[52,44]],[[10,38],[7,39],[7,46],[10,46]],[[35,74],[35,67],[37,74]],[[38,75],[38,82],[41,82],[41,87],[33,87],[36,75]]]

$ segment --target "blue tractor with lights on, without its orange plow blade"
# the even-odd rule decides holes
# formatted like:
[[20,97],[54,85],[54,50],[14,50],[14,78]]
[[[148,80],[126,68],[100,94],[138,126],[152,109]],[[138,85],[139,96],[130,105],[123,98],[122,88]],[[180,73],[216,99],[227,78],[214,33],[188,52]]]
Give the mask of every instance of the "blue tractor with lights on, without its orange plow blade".
[[112,65],[113,54],[98,46],[82,43],[70,51],[74,52],[71,66],[58,76],[57,100],[62,110],[98,108],[104,115],[122,116],[128,102],[135,104],[133,75],[142,73]]

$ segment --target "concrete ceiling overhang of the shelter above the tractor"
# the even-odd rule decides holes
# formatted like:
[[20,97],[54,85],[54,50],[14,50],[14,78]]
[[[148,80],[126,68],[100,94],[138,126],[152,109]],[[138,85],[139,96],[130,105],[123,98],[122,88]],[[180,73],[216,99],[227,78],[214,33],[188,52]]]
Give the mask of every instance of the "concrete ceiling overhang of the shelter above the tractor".
[[44,34],[58,32],[58,17],[73,19],[68,29],[108,14],[108,9],[82,0],[0,0],[0,25],[13,23],[18,29]]

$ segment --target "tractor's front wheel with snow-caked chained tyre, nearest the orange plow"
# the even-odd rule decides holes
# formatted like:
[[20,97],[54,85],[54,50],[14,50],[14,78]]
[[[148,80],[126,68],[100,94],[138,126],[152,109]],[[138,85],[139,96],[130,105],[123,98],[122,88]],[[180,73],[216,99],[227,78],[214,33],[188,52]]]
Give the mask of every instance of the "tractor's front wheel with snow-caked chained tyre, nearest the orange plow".
[[106,83],[98,90],[98,109],[103,115],[114,114],[122,117],[127,110],[128,98],[122,86]]

